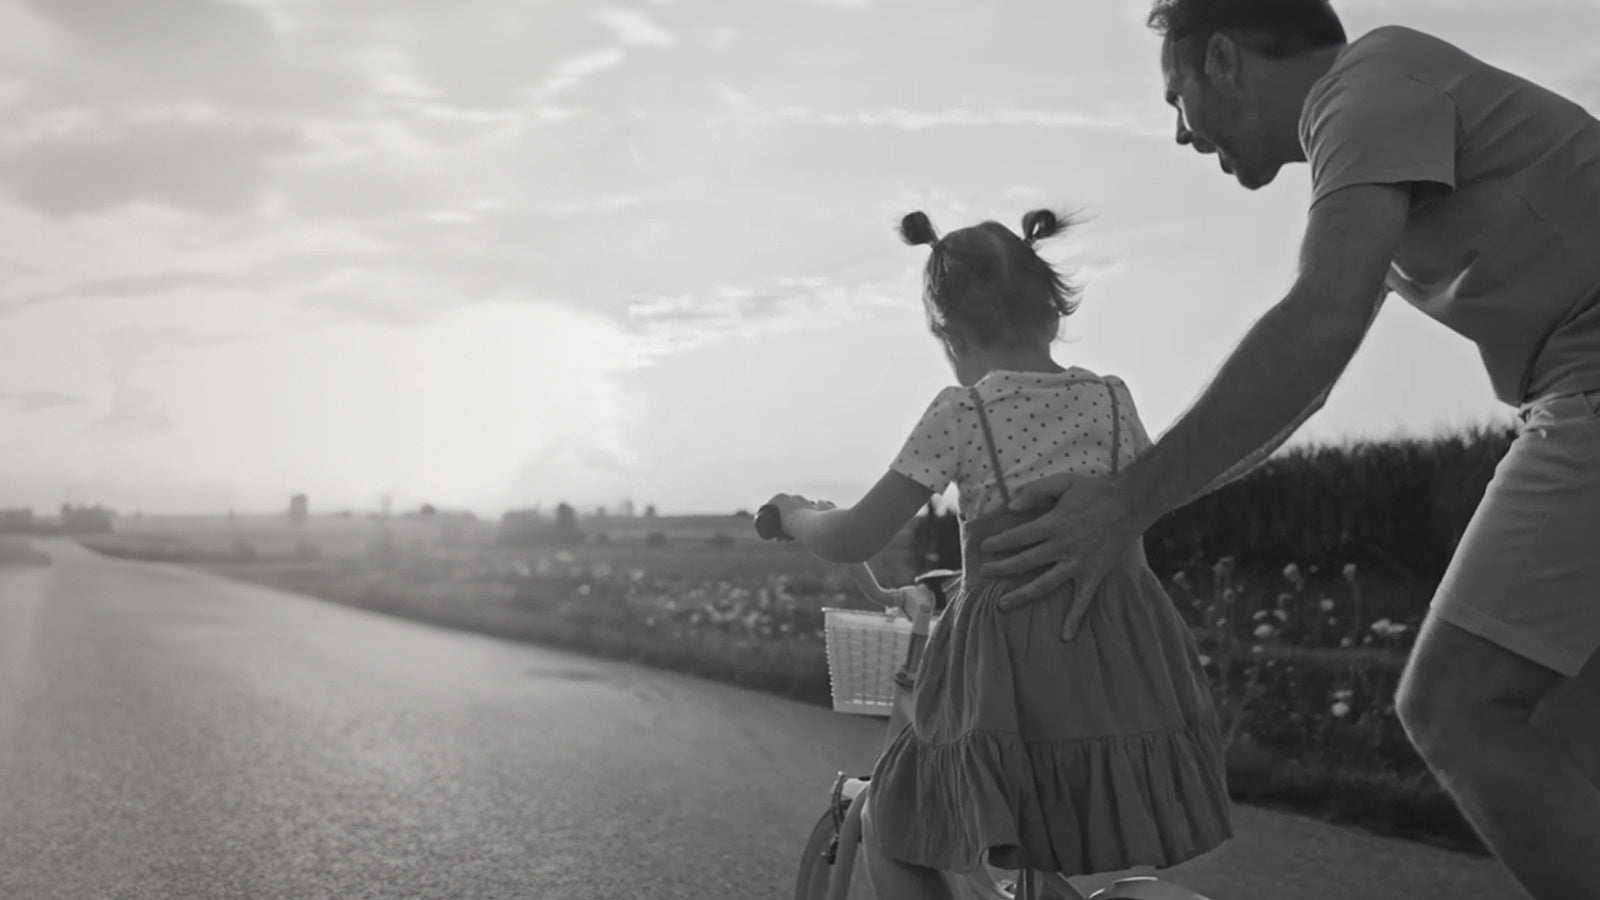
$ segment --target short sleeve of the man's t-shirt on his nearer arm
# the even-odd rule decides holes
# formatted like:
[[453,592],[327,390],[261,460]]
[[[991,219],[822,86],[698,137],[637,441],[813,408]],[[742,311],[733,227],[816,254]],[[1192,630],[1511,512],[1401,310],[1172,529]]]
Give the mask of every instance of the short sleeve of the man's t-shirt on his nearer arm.
[[1312,205],[1354,184],[1456,186],[1456,104],[1411,75],[1344,72],[1307,99],[1301,125]]

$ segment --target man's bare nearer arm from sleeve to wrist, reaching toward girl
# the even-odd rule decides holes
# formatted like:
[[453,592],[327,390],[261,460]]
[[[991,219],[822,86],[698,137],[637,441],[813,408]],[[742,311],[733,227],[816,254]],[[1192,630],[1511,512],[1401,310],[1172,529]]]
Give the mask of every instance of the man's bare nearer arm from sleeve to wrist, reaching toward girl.
[[1288,296],[1245,335],[1195,405],[1123,469],[1118,482],[1139,525],[1286,439],[1296,415],[1315,412],[1376,315],[1410,200],[1408,184],[1357,184],[1312,207]]

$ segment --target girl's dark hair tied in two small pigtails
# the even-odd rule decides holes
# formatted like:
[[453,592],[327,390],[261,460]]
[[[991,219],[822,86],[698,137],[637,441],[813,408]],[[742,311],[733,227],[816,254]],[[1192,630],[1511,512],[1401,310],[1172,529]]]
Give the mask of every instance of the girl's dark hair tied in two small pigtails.
[[1062,315],[1078,307],[1083,290],[1034,251],[1034,243],[1067,231],[1078,219],[1034,210],[1022,216],[1022,235],[995,221],[939,237],[928,215],[901,219],[906,243],[928,243],[923,303],[928,327],[982,346],[1016,344],[1038,335],[1056,338]]

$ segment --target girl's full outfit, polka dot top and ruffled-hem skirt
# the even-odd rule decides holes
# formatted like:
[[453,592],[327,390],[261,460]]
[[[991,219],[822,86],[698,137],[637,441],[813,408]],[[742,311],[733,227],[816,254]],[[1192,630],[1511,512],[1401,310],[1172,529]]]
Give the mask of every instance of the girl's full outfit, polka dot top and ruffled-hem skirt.
[[[994,372],[947,388],[896,458],[960,488],[965,578],[917,669],[915,711],[872,772],[878,839],[944,871],[984,862],[1062,874],[1166,868],[1234,834],[1222,737],[1200,653],[1136,543],[1070,642],[1070,586],[1013,612],[1026,578],[978,575],[984,538],[1030,516],[1010,487],[1115,474],[1150,439],[1117,378]],[[1037,575],[1037,573],[1035,573]]]

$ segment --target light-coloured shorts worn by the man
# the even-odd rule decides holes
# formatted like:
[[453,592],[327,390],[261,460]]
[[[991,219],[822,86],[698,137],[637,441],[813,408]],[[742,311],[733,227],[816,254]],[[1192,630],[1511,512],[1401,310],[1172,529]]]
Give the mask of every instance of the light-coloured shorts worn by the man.
[[1518,420],[1432,610],[1571,677],[1600,647],[1600,391]]

